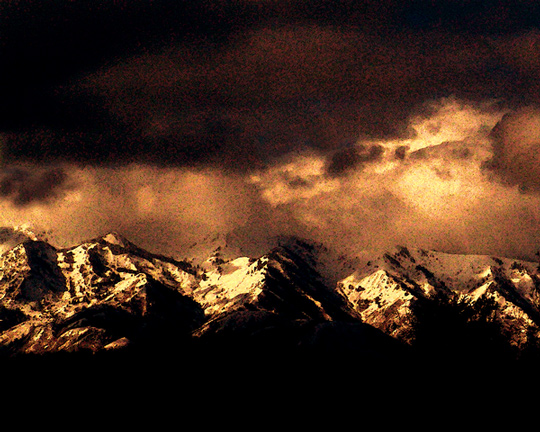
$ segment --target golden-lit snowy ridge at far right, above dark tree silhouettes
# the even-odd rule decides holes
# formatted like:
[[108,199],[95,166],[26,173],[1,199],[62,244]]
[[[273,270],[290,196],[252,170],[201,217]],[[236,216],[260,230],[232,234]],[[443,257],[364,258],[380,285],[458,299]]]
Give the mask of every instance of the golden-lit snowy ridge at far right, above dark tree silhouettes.
[[473,303],[494,299],[501,318],[517,323],[516,344],[527,342],[521,337],[527,332],[538,335],[540,272],[534,262],[396,247],[363,263],[338,287],[366,323],[405,341],[414,301],[438,293]]

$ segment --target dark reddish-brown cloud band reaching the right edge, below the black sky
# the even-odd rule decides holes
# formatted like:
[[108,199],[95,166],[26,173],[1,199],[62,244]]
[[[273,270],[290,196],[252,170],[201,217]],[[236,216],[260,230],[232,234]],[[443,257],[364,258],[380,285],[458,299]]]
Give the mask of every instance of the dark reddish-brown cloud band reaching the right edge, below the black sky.
[[175,43],[57,85],[55,119],[6,134],[3,153],[247,171],[303,147],[403,138],[430,100],[537,99],[539,34],[381,34],[301,22],[254,26],[227,43]]

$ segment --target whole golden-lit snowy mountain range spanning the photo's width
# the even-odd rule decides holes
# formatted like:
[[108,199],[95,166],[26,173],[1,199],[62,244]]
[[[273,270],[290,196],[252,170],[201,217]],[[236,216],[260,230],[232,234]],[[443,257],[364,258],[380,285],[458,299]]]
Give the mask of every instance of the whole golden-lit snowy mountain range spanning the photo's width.
[[479,340],[495,354],[502,343],[513,355],[538,351],[534,262],[404,247],[351,260],[300,239],[258,257],[217,245],[206,259],[176,260],[116,233],[66,249],[17,240],[0,254],[8,357],[261,349],[378,361]]

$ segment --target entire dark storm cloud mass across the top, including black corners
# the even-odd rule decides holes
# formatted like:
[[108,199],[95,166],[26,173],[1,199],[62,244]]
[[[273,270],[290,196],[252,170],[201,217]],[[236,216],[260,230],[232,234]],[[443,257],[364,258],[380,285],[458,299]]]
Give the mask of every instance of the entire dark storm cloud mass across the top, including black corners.
[[1,2],[5,158],[249,170],[539,95],[534,2]]

